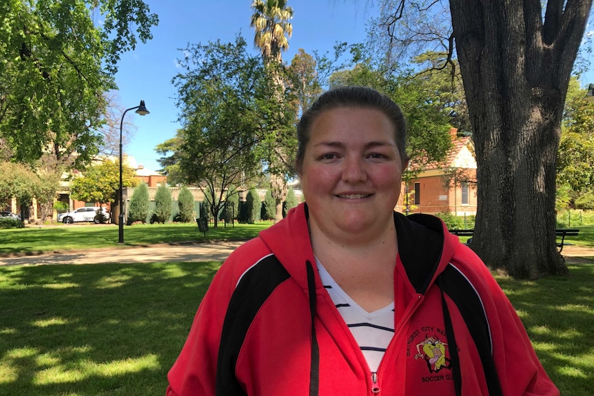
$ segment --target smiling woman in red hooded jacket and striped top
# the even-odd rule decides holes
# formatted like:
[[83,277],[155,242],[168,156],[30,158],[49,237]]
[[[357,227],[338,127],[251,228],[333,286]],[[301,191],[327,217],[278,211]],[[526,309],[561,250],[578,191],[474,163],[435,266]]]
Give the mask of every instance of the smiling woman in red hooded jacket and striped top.
[[167,395],[558,395],[478,257],[393,211],[398,105],[340,87],[297,132],[307,203],[223,264]]

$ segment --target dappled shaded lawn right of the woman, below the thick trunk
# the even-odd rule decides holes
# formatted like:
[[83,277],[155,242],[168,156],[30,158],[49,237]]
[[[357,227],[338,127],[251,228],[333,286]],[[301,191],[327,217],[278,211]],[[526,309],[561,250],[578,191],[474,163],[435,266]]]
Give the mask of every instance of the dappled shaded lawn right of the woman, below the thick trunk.
[[594,260],[582,262],[569,264],[569,277],[497,277],[562,395],[589,396],[594,386]]

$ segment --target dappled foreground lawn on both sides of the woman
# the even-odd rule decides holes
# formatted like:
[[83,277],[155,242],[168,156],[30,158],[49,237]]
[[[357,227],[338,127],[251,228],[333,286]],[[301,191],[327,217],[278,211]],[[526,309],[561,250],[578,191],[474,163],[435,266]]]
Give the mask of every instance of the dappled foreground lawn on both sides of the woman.
[[[0,267],[0,395],[164,395],[219,263]],[[499,277],[562,395],[594,387],[594,258]]]

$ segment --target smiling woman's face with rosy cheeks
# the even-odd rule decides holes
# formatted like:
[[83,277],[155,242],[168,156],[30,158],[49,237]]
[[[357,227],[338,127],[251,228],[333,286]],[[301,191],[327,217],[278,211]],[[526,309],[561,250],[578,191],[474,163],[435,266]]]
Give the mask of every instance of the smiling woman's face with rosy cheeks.
[[310,227],[342,236],[393,227],[402,158],[382,112],[338,107],[320,114],[300,170]]

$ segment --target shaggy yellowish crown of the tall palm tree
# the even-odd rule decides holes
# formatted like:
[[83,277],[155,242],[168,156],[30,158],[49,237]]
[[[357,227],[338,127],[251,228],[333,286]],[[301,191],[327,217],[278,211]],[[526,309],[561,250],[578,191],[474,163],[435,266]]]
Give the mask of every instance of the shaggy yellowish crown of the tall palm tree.
[[254,14],[249,25],[256,30],[254,45],[260,48],[265,61],[282,61],[281,51],[289,48],[293,34],[293,8],[287,0],[254,0]]

